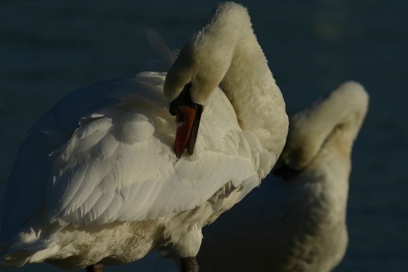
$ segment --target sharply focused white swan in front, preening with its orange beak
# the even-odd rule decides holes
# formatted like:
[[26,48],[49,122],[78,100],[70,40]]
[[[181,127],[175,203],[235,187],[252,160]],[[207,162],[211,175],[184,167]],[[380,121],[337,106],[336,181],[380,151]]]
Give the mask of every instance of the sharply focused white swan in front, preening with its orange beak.
[[219,4],[167,74],[75,90],[30,129],[9,177],[2,267],[101,271],[171,243],[197,271],[201,228],[260,184],[287,132],[246,8]]

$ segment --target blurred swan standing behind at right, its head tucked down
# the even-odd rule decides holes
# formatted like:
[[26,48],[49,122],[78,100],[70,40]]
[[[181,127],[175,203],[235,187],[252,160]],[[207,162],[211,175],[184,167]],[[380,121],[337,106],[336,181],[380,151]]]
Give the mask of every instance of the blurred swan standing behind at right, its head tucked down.
[[203,230],[197,257],[203,270],[326,272],[340,263],[348,243],[351,148],[368,99],[363,86],[349,81],[290,119],[273,170],[283,178],[263,182]]

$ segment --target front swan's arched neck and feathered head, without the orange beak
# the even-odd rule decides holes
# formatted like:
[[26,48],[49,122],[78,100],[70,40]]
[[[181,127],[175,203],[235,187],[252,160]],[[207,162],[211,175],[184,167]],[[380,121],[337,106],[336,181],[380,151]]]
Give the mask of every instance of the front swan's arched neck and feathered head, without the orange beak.
[[285,102],[246,8],[233,2],[218,5],[169,69],[164,84],[167,99],[175,99],[190,83],[191,100],[204,106],[221,85],[242,129],[256,133],[276,157],[281,154],[288,132]]

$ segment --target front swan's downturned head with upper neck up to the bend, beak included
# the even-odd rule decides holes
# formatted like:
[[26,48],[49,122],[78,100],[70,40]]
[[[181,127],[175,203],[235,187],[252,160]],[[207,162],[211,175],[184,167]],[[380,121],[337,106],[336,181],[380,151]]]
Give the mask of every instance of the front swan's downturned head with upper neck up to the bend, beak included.
[[193,152],[202,108],[231,65],[238,23],[250,25],[247,10],[232,2],[220,4],[205,28],[183,46],[167,73],[164,94],[179,123],[174,143],[177,157],[185,148]]

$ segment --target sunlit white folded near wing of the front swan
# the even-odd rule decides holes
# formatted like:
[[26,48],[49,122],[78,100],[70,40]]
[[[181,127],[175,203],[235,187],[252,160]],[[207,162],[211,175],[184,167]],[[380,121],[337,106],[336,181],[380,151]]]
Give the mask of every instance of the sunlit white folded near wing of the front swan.
[[[213,100],[224,103],[217,95]],[[133,97],[84,117],[53,154],[49,221],[101,225],[155,219],[203,204],[230,181],[242,184],[245,196],[274,160],[253,133],[239,129],[231,110],[210,103],[195,154],[180,160],[171,148],[175,123],[167,108]]]

